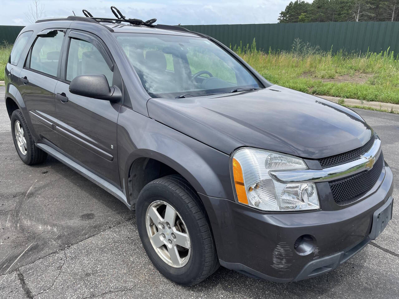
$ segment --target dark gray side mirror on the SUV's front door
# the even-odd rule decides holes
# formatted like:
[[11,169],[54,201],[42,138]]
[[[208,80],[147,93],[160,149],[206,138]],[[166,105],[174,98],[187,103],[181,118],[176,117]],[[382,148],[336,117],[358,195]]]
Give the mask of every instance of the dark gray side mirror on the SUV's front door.
[[86,74],[76,76],[69,84],[69,92],[88,98],[119,102],[122,92],[116,86],[109,87],[105,75]]

